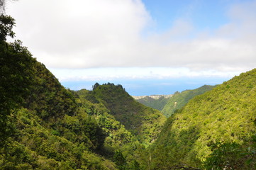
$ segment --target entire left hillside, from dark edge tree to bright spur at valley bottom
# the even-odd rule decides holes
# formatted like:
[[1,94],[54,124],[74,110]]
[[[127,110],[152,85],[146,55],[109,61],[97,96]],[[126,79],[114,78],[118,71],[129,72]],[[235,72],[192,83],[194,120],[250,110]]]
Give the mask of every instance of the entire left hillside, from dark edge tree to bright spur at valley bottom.
[[65,89],[0,16],[0,169],[135,169],[144,149],[106,106]]

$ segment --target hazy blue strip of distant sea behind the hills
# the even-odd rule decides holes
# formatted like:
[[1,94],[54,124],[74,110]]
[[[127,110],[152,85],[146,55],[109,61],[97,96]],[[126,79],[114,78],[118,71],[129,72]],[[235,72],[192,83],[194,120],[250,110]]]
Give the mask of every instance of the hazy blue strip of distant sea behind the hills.
[[230,78],[223,77],[203,77],[203,78],[173,78],[173,79],[113,79],[104,81],[61,81],[65,88],[71,90],[87,89],[91,90],[97,82],[99,84],[113,83],[121,84],[128,94],[132,96],[144,96],[154,94],[174,94],[175,91],[196,89],[204,85],[222,84]]

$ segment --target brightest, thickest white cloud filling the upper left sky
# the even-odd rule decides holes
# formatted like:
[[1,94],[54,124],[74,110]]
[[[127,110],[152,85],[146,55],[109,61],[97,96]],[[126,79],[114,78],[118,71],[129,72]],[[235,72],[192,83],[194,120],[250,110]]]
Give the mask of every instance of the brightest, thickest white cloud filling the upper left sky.
[[138,0],[23,0],[9,13],[18,38],[48,67],[123,64],[150,20]]

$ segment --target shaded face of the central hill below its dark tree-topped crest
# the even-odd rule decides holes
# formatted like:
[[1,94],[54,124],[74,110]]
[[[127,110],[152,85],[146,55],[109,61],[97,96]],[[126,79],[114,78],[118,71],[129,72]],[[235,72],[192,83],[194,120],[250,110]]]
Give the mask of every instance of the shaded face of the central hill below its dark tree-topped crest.
[[157,138],[166,120],[160,111],[135,101],[121,85],[96,84],[94,90],[89,91],[84,97],[94,103],[104,104],[111,115],[127,130],[138,135],[140,142],[144,142],[145,145],[149,145]]

